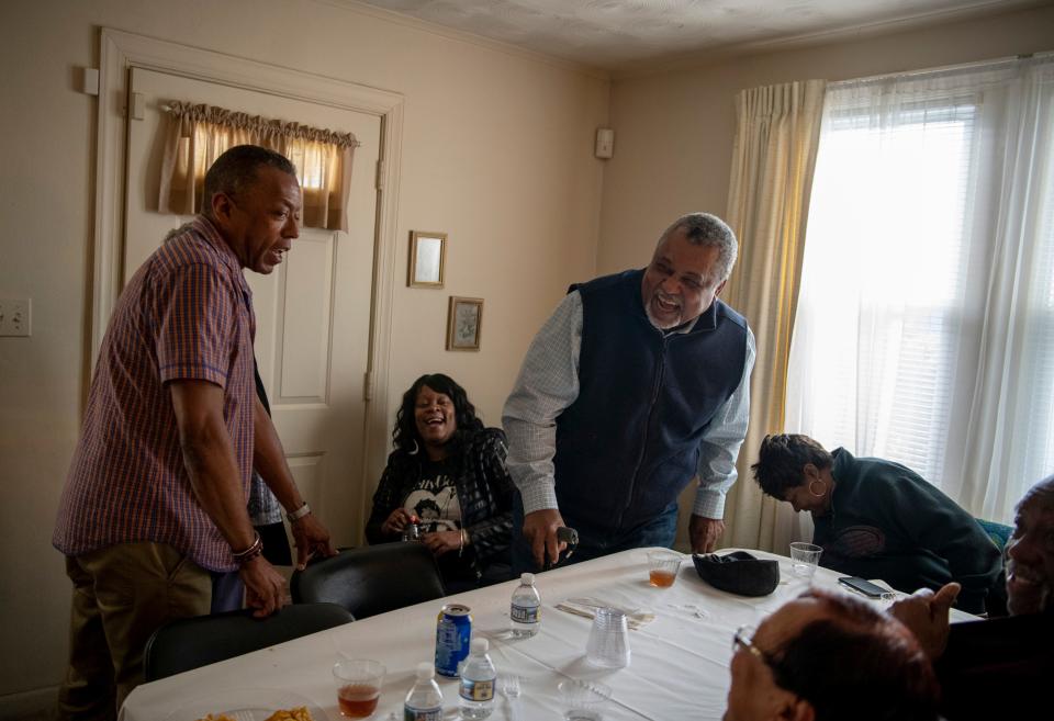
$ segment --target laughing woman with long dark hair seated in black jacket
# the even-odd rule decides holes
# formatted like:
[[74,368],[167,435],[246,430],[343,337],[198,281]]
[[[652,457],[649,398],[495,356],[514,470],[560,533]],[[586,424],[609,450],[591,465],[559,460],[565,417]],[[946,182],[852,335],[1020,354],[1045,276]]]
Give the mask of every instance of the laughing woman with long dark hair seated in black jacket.
[[392,440],[367,540],[397,541],[416,522],[448,593],[507,579],[513,482],[505,433],[484,428],[464,388],[435,373],[403,394]]

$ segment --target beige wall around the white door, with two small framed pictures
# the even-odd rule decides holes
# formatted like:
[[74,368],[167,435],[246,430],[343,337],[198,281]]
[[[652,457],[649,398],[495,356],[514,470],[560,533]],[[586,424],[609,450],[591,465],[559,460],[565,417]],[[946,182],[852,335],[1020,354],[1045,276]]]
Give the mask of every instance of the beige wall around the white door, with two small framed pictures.
[[[392,401],[425,371],[501,406],[534,330],[594,273],[608,85],[568,66],[306,0],[0,3],[0,297],[33,298],[33,337],[0,338],[0,695],[57,684],[69,583],[51,547],[87,380],[99,27],[403,93]],[[371,172],[372,169],[366,169]],[[405,288],[411,229],[446,230],[441,291]],[[444,350],[447,296],[486,300],[483,350]],[[365,341],[365,339],[363,339]],[[0,699],[0,717],[16,699]]]

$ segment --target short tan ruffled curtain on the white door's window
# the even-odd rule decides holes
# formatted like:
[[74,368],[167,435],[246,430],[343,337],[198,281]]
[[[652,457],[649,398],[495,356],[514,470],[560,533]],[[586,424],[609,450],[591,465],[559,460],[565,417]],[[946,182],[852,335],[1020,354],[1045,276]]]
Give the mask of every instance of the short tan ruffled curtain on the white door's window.
[[205,171],[215,159],[236,145],[259,145],[281,153],[296,166],[304,226],[348,229],[351,160],[358,146],[350,133],[178,101],[169,102],[167,110],[160,212],[201,212]]

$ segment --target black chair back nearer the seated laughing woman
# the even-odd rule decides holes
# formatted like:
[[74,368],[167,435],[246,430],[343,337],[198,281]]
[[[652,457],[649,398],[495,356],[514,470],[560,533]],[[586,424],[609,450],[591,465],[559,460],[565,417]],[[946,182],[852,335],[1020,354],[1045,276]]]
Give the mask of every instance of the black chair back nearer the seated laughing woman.
[[339,604],[363,619],[446,596],[424,543],[397,541],[341,551],[293,573],[293,602]]

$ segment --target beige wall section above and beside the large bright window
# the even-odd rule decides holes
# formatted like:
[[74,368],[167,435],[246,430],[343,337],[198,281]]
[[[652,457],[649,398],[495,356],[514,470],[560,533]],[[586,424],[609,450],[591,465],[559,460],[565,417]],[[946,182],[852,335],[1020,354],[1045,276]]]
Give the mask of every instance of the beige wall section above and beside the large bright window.
[[733,98],[790,80],[844,80],[1054,49],[1054,7],[799,50],[755,54],[612,87],[615,157],[604,174],[597,270],[643,266],[692,211],[724,215]]

